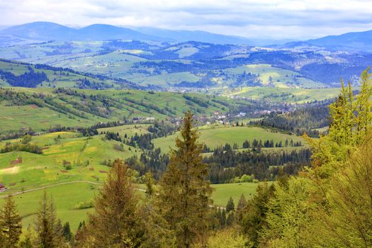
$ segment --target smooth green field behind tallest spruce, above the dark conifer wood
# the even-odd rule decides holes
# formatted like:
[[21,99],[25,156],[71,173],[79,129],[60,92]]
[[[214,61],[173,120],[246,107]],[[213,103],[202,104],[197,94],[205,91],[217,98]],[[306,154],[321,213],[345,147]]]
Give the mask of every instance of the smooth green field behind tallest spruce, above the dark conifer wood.
[[[233,127],[233,126],[203,126],[199,129],[200,142],[205,143],[208,147],[214,149],[225,145],[226,143],[233,145],[237,143],[239,148],[242,148],[242,143],[248,140],[252,143],[256,140],[274,140],[276,142],[285,142],[286,139],[304,142],[302,137],[295,135],[287,135],[283,133],[274,133],[270,130],[257,127]],[[159,137],[154,139],[154,147],[159,147],[162,152],[169,152],[169,147],[175,145],[174,140],[179,133],[169,135],[167,137]]]

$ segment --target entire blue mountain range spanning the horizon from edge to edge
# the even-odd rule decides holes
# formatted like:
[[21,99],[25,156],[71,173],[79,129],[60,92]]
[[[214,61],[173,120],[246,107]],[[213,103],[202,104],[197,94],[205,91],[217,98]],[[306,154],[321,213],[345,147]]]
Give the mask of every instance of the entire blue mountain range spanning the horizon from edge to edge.
[[[372,30],[329,35],[312,40],[270,40],[220,35],[201,30],[169,30],[163,28],[125,28],[107,24],[93,24],[84,28],[69,28],[57,23],[34,22],[0,29],[0,46],[19,45],[49,40],[154,40],[186,42],[189,40],[214,43],[276,48],[325,47],[329,50],[372,51]],[[275,44],[275,45],[273,45]]]

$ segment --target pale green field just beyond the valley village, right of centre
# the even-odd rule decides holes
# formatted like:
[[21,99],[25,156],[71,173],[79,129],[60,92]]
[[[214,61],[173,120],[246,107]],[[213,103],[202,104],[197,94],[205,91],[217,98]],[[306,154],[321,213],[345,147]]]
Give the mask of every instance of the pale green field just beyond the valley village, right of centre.
[[239,91],[226,91],[226,96],[240,96],[255,100],[287,103],[322,101],[338,96],[340,88],[330,89],[284,89],[266,87],[246,87]]

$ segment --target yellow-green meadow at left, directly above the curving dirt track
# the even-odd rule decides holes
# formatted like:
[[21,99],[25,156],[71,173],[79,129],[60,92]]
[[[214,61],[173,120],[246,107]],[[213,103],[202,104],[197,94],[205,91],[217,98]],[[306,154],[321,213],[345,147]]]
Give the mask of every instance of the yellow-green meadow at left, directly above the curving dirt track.
[[[56,139],[58,135],[60,139]],[[31,142],[45,147],[43,154],[0,154],[0,182],[10,186],[10,192],[66,181],[102,181],[110,169],[101,164],[104,160],[127,159],[140,154],[140,150],[128,145],[123,145],[123,151],[115,150],[113,146],[120,143],[106,140],[103,135],[86,138],[74,133],[50,133],[33,137]],[[4,145],[4,141],[0,142],[0,147]],[[66,164],[72,168],[66,169]]]

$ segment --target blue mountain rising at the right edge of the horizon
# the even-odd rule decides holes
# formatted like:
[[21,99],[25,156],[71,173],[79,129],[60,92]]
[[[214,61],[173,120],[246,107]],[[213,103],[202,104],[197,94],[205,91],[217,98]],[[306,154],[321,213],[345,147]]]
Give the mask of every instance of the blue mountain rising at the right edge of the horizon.
[[332,50],[361,50],[372,52],[372,30],[344,33],[343,35],[329,35],[315,40],[308,40],[307,42]]

